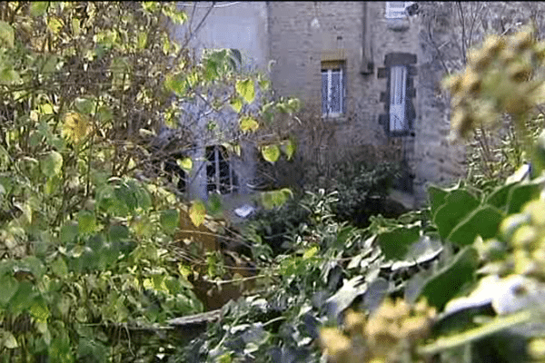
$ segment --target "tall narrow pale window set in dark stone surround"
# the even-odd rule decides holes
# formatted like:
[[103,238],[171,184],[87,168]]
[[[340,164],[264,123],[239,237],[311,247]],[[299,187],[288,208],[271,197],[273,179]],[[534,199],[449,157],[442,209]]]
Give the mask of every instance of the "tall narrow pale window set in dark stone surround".
[[405,117],[407,93],[407,67],[394,65],[390,68],[390,131],[408,130]]

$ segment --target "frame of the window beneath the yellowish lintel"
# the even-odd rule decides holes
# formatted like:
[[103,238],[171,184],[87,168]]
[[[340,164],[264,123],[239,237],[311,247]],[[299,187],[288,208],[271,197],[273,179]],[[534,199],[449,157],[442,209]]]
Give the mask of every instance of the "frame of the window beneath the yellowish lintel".
[[[330,112],[332,110],[332,80],[333,74],[339,74],[339,112]],[[323,76],[327,77],[327,104],[324,107],[324,88],[323,88]],[[321,67],[322,78],[322,117],[342,117],[346,113],[346,71],[344,61],[324,61]]]

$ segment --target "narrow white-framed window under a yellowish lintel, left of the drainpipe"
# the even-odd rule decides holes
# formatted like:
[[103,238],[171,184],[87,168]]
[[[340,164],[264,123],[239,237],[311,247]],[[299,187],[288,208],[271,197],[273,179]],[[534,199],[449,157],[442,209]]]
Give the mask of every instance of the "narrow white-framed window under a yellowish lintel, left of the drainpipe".
[[322,114],[344,113],[344,72],[342,62],[322,62]]

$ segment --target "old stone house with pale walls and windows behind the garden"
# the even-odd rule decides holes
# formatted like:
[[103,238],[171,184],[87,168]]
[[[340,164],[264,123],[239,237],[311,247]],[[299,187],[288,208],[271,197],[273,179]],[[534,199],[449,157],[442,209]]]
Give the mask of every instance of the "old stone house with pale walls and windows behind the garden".
[[[406,193],[411,206],[425,201],[428,183],[444,184],[464,175],[464,148],[447,141],[449,100],[440,88],[444,70],[437,49],[426,39],[429,29],[425,29],[423,17],[414,14],[418,4],[279,1],[179,5],[191,20],[174,29],[176,36],[181,39],[190,34],[189,44],[197,52],[239,50],[247,69],[269,74],[277,94],[302,101],[298,132],[302,162],[347,158],[403,162],[406,172],[398,188]],[[225,117],[227,129],[236,124],[229,121],[233,115]],[[200,124],[203,127],[205,120]],[[236,175],[239,191],[251,191],[246,185],[253,181],[257,152],[243,152],[242,159],[228,161],[218,146],[208,142],[200,142],[200,152],[194,155],[190,194],[205,197],[207,191],[214,190],[210,186],[213,173],[222,174],[217,178],[223,179],[228,173],[232,184]],[[232,169],[224,165],[232,165]],[[226,168],[229,171],[222,172]],[[286,174],[284,182],[288,184],[298,182],[289,176],[305,177],[296,172]]]

